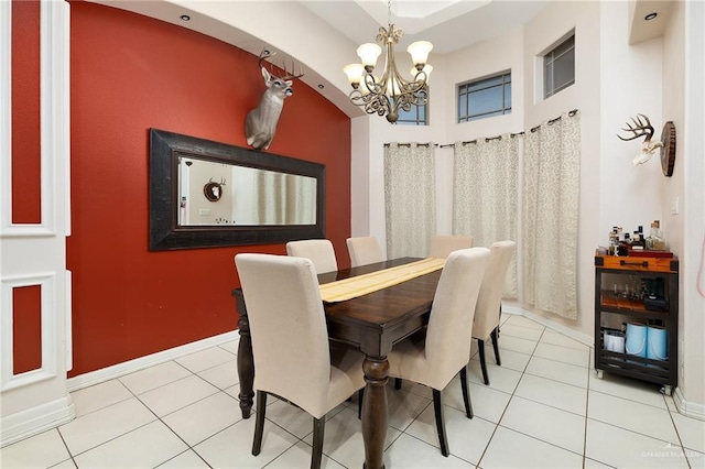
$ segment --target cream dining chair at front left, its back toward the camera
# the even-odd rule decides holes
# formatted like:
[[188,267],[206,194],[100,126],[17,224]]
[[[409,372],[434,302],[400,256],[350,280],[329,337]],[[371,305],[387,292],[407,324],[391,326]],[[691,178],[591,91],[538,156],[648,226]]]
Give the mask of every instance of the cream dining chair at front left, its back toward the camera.
[[252,455],[260,454],[267,395],[313,416],[311,467],[321,467],[325,415],[365,386],[365,356],[330,348],[318,279],[304,258],[235,257],[252,340],[257,421]]

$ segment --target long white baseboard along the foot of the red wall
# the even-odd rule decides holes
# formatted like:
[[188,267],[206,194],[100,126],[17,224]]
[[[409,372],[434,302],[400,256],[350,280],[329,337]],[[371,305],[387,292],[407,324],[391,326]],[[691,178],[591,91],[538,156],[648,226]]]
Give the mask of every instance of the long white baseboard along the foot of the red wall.
[[195,342],[186,343],[180,347],[174,347],[173,349],[135,358],[134,360],[124,361],[122,363],[113,364],[112,367],[102,368],[100,370],[69,378],[66,382],[66,388],[68,392],[78,391],[80,389],[93,386],[105,381],[124,377],[126,374],[130,374],[135,371],[153,367],[155,364],[174,360],[185,355],[194,353],[210,347],[218,346],[220,343],[239,339],[240,335],[237,330],[208,337],[203,340],[197,340]]

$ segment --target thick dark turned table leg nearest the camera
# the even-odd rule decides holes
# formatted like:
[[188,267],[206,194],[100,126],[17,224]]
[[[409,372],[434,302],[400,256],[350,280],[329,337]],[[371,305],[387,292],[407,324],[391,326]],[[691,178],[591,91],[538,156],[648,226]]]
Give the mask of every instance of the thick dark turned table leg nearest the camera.
[[362,400],[362,439],[365,441],[365,468],[383,469],[384,441],[387,439],[387,357],[366,357],[365,399]]

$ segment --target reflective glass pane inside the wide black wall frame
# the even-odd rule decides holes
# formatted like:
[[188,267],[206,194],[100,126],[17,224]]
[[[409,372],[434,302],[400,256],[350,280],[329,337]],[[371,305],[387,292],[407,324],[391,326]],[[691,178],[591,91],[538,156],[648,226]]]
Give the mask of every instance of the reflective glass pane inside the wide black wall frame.
[[178,155],[178,225],[315,225],[316,178]]

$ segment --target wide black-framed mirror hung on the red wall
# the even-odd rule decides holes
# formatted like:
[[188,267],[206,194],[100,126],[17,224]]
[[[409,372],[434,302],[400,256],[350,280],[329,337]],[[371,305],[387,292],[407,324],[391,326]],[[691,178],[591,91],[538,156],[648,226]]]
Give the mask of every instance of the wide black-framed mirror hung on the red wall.
[[325,237],[325,165],[150,129],[151,251]]

